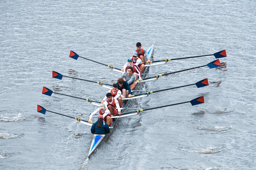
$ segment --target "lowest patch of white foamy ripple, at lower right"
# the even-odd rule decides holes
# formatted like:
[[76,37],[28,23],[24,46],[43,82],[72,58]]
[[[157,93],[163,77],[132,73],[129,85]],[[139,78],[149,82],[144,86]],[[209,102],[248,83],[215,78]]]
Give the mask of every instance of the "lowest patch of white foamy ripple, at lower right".
[[219,147],[206,147],[206,148],[190,148],[190,147],[183,147],[177,146],[180,151],[186,152],[196,152],[196,153],[204,153],[204,154],[211,154],[211,153],[219,153],[226,149],[227,145],[223,144]]

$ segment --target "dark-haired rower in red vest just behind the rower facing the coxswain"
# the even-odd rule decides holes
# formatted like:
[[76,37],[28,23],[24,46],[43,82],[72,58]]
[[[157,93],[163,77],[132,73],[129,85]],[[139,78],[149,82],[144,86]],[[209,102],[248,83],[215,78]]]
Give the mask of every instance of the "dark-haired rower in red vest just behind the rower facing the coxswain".
[[118,111],[118,114],[121,115],[121,109],[119,107],[118,101],[112,98],[111,93],[107,93],[106,96],[107,96],[107,100],[104,101],[103,104],[105,104],[105,106],[108,107],[108,110],[110,111],[111,115],[116,115],[117,111]]

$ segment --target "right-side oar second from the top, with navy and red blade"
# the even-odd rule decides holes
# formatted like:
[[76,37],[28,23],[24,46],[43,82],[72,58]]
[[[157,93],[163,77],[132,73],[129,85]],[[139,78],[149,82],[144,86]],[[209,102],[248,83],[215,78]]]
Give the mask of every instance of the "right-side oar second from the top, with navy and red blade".
[[217,60],[215,60],[215,61],[213,61],[213,62],[211,62],[211,63],[208,63],[208,64],[206,64],[206,65],[202,65],[202,66],[198,66],[198,67],[193,67],[193,68],[185,69],[185,70],[179,70],[179,71],[164,73],[164,74],[157,74],[156,76],[147,77],[147,78],[143,78],[143,79],[136,80],[136,81],[137,81],[137,82],[145,82],[145,80],[149,81],[148,79],[150,79],[150,78],[153,78],[152,80],[156,80],[157,78],[159,78],[159,77],[161,77],[161,76],[166,76],[166,75],[173,74],[173,73],[178,73],[178,72],[181,72],[181,71],[187,71],[187,70],[197,69],[197,68],[205,67],[205,66],[208,66],[210,69],[212,69],[212,68],[216,68],[216,67],[221,66],[221,63],[220,63],[220,60],[217,59]]

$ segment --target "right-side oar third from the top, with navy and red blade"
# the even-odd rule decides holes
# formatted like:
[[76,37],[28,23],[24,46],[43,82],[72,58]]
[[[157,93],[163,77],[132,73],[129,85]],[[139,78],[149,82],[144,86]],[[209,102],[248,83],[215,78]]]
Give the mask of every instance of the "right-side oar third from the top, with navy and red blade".
[[[200,80],[194,84],[190,84],[190,85],[196,85],[197,88],[200,88],[200,87],[204,87],[204,86],[207,86],[209,85],[208,83],[208,79],[205,78],[203,80]],[[171,90],[171,89],[177,89],[177,88],[181,88],[181,87],[187,87],[187,86],[190,86],[190,85],[182,85],[182,86],[178,86],[178,87],[171,87],[171,88],[167,88],[167,89],[162,89],[162,90],[156,90],[156,91],[147,91],[147,92],[143,92],[143,93],[139,93],[139,94],[133,94],[132,97],[124,97],[122,100],[130,100],[130,99],[136,99],[136,98],[141,98],[141,97],[147,97],[149,94],[152,94],[152,93],[155,93],[155,92],[162,92],[162,91],[165,91],[165,90]],[[139,97],[136,97],[136,96],[139,96]]]

